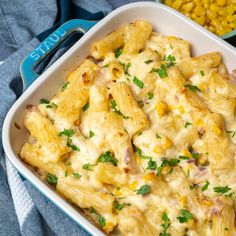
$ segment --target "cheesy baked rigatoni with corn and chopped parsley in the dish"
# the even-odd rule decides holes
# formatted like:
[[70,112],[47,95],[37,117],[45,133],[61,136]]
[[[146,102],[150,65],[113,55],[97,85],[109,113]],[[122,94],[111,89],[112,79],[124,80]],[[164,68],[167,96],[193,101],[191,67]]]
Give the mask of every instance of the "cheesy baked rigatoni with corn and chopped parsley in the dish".
[[[91,58],[92,57],[92,58]],[[236,86],[219,52],[137,20],[27,108],[20,157],[109,235],[234,235]]]

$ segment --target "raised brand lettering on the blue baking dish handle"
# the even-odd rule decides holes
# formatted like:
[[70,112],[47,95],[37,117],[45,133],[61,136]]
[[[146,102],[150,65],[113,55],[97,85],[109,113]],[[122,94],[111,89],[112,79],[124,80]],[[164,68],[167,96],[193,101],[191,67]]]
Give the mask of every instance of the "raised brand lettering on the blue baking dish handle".
[[40,57],[46,55],[48,51],[54,48],[58,43],[64,38],[67,31],[63,28],[56,30],[52,35],[50,35],[45,41],[43,41],[39,47],[37,47],[33,52],[31,52],[30,57],[37,61]]

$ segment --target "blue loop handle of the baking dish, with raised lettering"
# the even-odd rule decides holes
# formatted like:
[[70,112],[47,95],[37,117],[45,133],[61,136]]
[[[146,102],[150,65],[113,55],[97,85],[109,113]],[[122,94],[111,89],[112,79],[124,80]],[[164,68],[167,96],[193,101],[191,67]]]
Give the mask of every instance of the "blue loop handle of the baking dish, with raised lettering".
[[97,21],[80,19],[67,21],[41,42],[21,63],[20,72],[23,80],[23,89],[28,88],[29,85],[39,77],[35,72],[35,67],[69,35],[74,32],[85,34],[96,23]]

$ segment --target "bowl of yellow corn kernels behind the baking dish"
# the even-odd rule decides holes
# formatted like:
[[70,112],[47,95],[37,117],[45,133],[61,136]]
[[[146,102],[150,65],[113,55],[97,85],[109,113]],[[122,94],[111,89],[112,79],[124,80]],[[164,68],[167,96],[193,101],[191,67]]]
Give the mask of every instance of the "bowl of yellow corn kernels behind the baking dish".
[[236,35],[236,0],[162,0],[223,39]]

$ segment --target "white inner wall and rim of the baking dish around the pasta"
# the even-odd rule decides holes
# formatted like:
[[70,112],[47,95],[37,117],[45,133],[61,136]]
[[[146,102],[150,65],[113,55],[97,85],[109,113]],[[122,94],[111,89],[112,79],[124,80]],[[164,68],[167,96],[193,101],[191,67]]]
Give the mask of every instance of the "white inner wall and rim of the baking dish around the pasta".
[[[54,95],[64,77],[75,69],[82,59],[87,57],[93,41],[105,36],[123,23],[132,22],[136,19],[148,20],[157,32],[188,40],[192,45],[192,55],[219,51],[229,71],[232,71],[236,66],[236,49],[234,47],[181,13],[163,4],[147,2],[128,4],[113,11],[97,23],[44,72],[11,107],[3,125],[3,147],[10,162],[45,196],[93,235],[104,234],[42,182],[18,157],[20,148],[28,139],[28,132],[23,126],[24,111],[28,104],[38,104],[40,98],[49,98]],[[15,127],[15,122],[20,125],[21,129]]]

